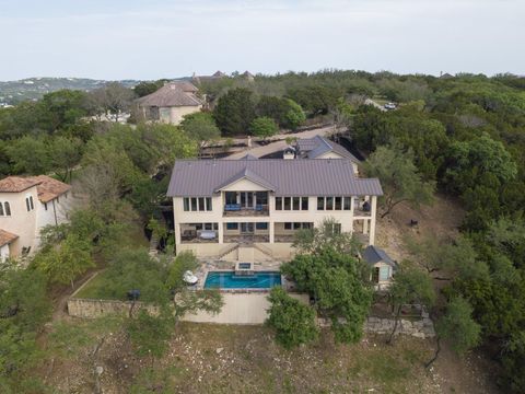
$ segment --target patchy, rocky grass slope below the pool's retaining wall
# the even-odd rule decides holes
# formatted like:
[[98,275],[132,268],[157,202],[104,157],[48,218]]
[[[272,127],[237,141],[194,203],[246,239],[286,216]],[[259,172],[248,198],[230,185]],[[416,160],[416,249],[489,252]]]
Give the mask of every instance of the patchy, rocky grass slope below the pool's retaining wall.
[[[105,337],[97,364],[104,392],[126,393],[438,393],[422,363],[428,341],[368,337],[337,345],[324,331],[319,343],[293,350],[276,345],[265,326],[179,323],[167,354],[138,358],[126,345],[121,321],[100,318],[56,323],[48,346],[56,369],[49,382],[75,379],[89,391],[86,355]],[[126,366],[126,367],[124,367]]]

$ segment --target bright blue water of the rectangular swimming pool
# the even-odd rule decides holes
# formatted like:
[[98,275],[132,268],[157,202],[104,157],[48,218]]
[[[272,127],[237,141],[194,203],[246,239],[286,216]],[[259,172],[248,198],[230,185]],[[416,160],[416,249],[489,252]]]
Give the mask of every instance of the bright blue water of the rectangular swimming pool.
[[269,289],[281,286],[278,271],[256,271],[254,275],[235,275],[235,271],[209,271],[205,289]]

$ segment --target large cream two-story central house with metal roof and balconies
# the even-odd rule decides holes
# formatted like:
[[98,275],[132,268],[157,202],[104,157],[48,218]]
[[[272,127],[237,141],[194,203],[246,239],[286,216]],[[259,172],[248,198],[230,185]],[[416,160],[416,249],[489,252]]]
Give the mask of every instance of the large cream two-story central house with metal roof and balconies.
[[[179,160],[167,195],[173,198],[177,253],[220,258],[253,246],[289,258],[300,229],[337,220],[336,231],[373,244],[376,178],[359,178],[349,159]],[[258,252],[257,252],[258,253]]]

